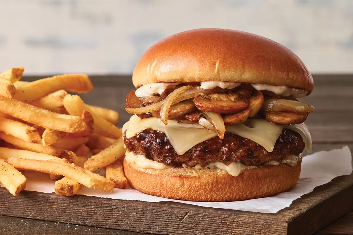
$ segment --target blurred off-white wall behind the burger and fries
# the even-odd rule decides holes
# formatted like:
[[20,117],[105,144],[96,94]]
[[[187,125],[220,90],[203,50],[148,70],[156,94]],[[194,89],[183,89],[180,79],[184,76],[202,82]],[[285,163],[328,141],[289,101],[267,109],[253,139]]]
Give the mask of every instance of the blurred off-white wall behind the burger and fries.
[[0,70],[131,74],[174,33],[243,30],[293,50],[312,73],[353,72],[353,0],[0,0]]

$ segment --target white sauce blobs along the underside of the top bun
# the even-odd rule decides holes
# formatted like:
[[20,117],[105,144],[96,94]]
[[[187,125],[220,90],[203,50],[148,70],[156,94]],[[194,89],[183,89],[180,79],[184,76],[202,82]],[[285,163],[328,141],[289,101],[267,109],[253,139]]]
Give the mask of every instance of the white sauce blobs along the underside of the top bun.
[[[144,97],[148,95],[156,95],[162,94],[165,89],[174,88],[179,85],[178,82],[158,82],[143,85],[139,87],[135,94],[137,97]],[[239,86],[241,83],[239,82],[221,82],[221,81],[209,81],[209,82],[201,82],[201,88],[203,89],[213,89],[216,87],[221,87],[223,89],[233,89]],[[293,96],[295,98],[303,98],[306,96],[307,91],[302,89],[291,88],[287,86],[274,86],[265,83],[256,83],[251,84],[258,91],[271,91],[277,95],[282,96]]]

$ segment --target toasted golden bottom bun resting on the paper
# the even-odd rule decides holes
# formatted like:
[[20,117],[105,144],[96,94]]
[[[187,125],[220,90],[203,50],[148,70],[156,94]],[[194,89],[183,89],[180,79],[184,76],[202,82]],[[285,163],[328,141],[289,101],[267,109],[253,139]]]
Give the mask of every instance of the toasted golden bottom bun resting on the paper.
[[301,161],[292,167],[261,166],[234,177],[221,169],[143,169],[124,159],[124,172],[132,187],[150,195],[188,201],[221,202],[271,196],[292,188]]

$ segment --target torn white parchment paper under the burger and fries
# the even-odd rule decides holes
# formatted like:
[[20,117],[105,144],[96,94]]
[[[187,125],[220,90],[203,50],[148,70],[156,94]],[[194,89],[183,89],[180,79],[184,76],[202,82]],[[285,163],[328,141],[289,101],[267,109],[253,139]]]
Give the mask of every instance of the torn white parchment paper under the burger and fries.
[[[342,149],[321,151],[303,157],[301,174],[297,185],[287,192],[272,197],[245,200],[240,202],[187,202],[150,196],[134,189],[114,189],[113,193],[100,192],[82,186],[79,194],[112,199],[140,200],[145,202],[172,201],[213,208],[234,209],[253,212],[276,213],[291,205],[293,200],[310,193],[319,185],[329,183],[333,178],[352,173],[352,154],[346,146]],[[54,192],[54,181],[48,174],[24,172],[28,179],[25,190],[44,193]]]

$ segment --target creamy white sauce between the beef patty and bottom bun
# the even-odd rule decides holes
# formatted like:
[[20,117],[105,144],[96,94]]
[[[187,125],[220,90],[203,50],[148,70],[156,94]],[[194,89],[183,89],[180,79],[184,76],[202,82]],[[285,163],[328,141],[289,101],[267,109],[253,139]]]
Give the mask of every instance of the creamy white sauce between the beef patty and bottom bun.
[[[160,170],[160,169],[171,168],[170,166],[166,166],[162,163],[146,159],[146,157],[144,157],[143,155],[134,155],[133,152],[130,152],[130,151],[126,151],[125,159],[127,162],[135,163],[138,167],[143,168],[143,169],[152,168],[152,169],[159,169]],[[267,164],[278,166],[278,165],[280,165],[280,163],[282,163],[282,164],[288,164],[289,166],[296,166],[298,163],[298,160],[300,160],[300,159],[301,159],[300,155],[299,156],[290,155],[286,159],[283,159],[281,162],[270,161]],[[183,164],[183,166],[184,166],[184,164]],[[206,167],[202,167],[201,165],[196,164],[195,169],[219,168],[219,169],[227,171],[230,175],[237,177],[245,169],[256,168],[256,167],[257,166],[245,166],[244,164],[241,164],[240,162],[232,162],[228,166],[222,162],[211,162]]]

